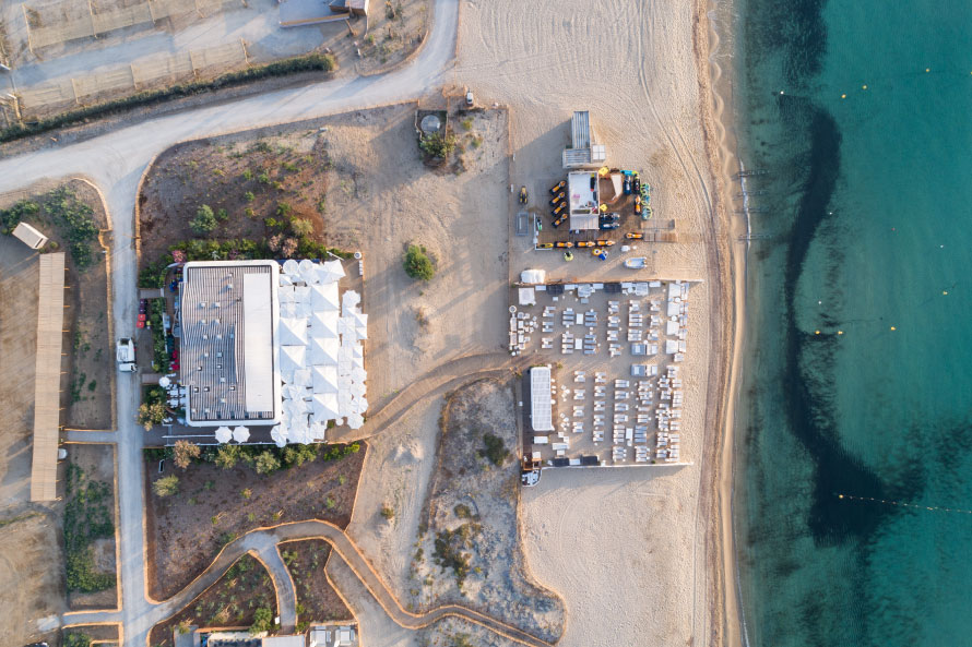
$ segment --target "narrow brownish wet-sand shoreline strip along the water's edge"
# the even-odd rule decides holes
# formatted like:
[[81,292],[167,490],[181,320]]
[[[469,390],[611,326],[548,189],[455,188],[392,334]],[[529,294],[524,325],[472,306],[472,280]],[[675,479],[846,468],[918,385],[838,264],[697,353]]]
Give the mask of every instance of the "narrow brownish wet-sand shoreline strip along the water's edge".
[[[725,43],[716,31],[713,16],[728,17],[732,4],[725,0],[698,0],[694,29],[700,84],[700,119],[706,139],[709,172],[712,178],[713,230],[710,254],[710,279],[718,285],[711,312],[713,326],[722,331],[714,345],[712,364],[718,376],[718,388],[712,394],[714,405],[712,429],[718,434],[706,447],[711,458],[706,479],[704,502],[712,522],[706,526],[709,549],[710,577],[710,639],[713,645],[739,646],[745,642],[742,600],[738,595],[738,573],[735,555],[733,520],[734,492],[734,422],[742,370],[742,352],[746,321],[746,248],[736,244],[746,233],[745,218],[734,217],[733,177],[739,168],[735,123],[733,122],[733,70],[714,60]],[[711,397],[710,397],[711,402]],[[720,433],[721,432],[721,433]]]

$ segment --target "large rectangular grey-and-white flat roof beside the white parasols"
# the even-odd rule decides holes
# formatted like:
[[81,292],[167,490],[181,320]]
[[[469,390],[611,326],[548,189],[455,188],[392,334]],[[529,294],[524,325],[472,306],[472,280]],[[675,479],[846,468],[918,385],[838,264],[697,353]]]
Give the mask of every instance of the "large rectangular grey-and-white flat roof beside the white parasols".
[[190,427],[280,421],[278,269],[273,261],[183,267],[180,383]]

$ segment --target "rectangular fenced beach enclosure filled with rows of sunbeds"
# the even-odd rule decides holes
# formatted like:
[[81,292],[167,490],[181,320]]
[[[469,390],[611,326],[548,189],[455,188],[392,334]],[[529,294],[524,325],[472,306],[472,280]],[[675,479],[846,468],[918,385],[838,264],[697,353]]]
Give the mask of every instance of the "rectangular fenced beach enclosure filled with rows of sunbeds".
[[[692,281],[517,288],[510,352],[537,357],[528,379],[524,457],[538,467],[678,464]],[[533,371],[533,370],[532,370]],[[549,422],[544,397],[550,391]],[[537,397],[540,396],[540,397]],[[538,409],[535,402],[540,402]]]

